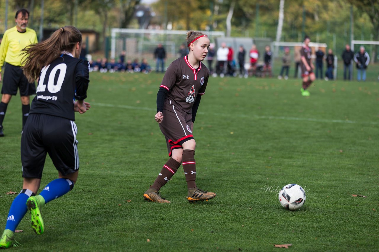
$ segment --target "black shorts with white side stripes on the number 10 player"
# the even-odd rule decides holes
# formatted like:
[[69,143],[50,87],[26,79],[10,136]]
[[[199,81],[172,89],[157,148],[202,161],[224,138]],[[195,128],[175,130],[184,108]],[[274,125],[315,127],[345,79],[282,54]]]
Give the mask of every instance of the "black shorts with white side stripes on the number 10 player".
[[40,179],[47,153],[63,176],[78,171],[76,133],[74,121],[47,114],[30,114],[21,137],[22,177]]

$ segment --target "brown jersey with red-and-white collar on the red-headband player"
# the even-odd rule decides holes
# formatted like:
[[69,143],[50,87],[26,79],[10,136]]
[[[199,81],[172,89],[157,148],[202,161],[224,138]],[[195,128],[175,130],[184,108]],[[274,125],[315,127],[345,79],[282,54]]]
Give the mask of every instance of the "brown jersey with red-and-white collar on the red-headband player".
[[191,114],[197,95],[205,93],[208,77],[209,70],[202,62],[199,68],[194,69],[187,56],[180,57],[167,68],[160,87],[169,91],[166,100],[171,100],[175,107]]

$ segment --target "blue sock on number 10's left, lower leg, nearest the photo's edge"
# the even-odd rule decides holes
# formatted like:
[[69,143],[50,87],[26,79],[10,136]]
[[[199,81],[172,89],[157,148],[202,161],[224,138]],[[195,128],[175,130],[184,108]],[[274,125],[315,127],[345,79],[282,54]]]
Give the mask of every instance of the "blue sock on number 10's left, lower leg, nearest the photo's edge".
[[19,195],[14,198],[11,208],[9,209],[8,218],[6,220],[5,229],[10,229],[14,232],[16,227],[19,225],[25,213],[28,211],[26,206],[26,201],[34,193],[29,189],[22,189]]

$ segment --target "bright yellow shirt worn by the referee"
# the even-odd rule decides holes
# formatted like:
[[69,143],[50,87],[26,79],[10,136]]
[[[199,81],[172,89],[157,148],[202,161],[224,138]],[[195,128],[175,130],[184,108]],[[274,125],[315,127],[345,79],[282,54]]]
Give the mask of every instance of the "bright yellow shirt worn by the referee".
[[33,29],[26,28],[25,32],[19,32],[14,26],[6,30],[0,44],[0,71],[4,62],[14,66],[23,66],[21,50],[36,43],[38,43],[37,34]]

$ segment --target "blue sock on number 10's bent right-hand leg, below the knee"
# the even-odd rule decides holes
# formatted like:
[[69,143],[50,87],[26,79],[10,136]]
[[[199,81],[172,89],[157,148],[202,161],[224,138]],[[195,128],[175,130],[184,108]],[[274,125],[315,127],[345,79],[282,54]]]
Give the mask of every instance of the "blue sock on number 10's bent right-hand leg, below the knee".
[[70,179],[58,178],[51,181],[39,195],[45,199],[45,204],[53,199],[65,195],[74,187]]

